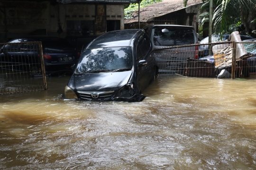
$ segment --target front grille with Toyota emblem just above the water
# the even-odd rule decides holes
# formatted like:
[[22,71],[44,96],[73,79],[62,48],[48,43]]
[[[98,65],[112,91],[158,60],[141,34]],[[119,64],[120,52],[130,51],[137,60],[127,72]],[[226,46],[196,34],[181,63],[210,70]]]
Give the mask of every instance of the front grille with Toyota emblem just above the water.
[[[103,100],[103,99],[110,99],[110,97],[114,94],[114,91],[77,91],[77,93],[79,97],[82,99]],[[93,96],[92,94],[94,94],[94,98],[92,97]]]

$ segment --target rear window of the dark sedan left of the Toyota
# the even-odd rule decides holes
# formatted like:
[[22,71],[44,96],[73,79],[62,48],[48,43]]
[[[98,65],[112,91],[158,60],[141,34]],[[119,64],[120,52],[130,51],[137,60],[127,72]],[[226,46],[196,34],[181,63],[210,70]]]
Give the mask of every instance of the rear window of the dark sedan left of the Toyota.
[[60,39],[42,41],[42,46],[45,52],[64,52],[75,50],[74,46],[69,44],[67,41]]

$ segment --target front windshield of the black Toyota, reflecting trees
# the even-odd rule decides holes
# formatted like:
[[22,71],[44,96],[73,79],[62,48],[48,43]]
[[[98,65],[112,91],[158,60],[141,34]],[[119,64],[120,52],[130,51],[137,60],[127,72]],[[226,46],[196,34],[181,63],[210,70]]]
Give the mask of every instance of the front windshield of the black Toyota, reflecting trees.
[[80,57],[75,73],[131,70],[131,47],[86,49]]

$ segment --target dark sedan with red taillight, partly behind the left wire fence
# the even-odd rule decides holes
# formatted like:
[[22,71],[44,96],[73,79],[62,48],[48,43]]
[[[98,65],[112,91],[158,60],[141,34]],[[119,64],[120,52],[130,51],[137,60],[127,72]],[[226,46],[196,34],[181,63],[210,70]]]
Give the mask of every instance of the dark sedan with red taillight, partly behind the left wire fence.
[[42,42],[46,73],[71,70],[80,53],[66,40],[50,36],[27,36],[11,40],[1,47],[0,66],[3,69],[40,73],[40,51],[36,43]]

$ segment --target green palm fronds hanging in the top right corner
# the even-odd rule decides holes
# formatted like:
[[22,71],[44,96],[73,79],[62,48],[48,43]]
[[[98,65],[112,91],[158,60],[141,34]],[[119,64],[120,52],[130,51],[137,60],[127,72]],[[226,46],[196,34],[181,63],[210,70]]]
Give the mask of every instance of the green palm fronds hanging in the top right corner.
[[[209,0],[201,6],[199,23],[209,21]],[[244,26],[244,34],[256,31],[256,0],[213,0],[213,32],[223,35]]]

